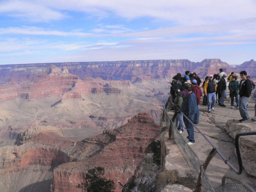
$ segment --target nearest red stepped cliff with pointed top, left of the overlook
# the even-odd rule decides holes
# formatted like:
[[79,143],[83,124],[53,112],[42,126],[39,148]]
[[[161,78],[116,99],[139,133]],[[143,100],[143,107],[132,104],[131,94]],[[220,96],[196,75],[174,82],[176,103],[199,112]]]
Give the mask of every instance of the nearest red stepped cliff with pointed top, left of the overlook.
[[[159,126],[146,113],[140,113],[132,118],[122,128],[106,130],[101,135],[109,143],[103,144],[102,150],[92,157],[79,159],[78,162],[64,163],[54,169],[52,191],[77,192],[78,184],[85,182],[88,169],[102,166],[105,168],[105,177],[114,181],[116,190],[121,191],[117,181],[125,184],[134,174],[139,174],[145,150],[159,135]],[[97,137],[89,138],[84,142],[98,143]]]

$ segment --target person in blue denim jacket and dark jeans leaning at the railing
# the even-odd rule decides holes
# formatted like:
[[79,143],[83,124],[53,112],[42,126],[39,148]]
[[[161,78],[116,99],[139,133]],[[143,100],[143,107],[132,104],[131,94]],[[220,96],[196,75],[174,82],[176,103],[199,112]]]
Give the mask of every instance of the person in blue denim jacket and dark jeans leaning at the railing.
[[[182,105],[181,105],[181,112],[187,116],[187,118],[193,122],[196,113],[196,95],[192,92],[191,86],[188,84],[185,86],[185,90],[187,91],[187,97],[184,98]],[[187,128],[189,139],[188,145],[192,145],[195,143],[194,137],[194,126],[192,123],[188,121],[186,117],[184,118],[184,123]]]

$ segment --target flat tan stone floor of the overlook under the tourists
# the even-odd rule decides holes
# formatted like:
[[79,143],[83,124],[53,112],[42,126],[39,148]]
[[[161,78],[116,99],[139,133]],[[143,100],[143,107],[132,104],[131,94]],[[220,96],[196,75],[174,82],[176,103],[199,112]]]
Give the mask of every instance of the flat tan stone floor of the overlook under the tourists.
[[[221,151],[225,158],[230,159],[230,162],[239,169],[236,154],[234,153],[234,139],[226,132],[225,126],[228,120],[241,119],[239,110],[231,109],[230,99],[225,99],[226,107],[221,107],[218,104],[215,105],[214,111],[207,112],[207,106],[200,105],[200,123],[196,126],[210,139],[215,147]],[[169,112],[172,116],[173,111]],[[254,102],[249,102],[249,116],[254,116]],[[250,120],[252,121],[252,120]],[[239,121],[237,121],[239,122]],[[187,137],[187,133],[182,134],[184,139]],[[195,144],[191,146],[199,157],[201,163],[203,163],[207,155],[212,150],[212,146],[206,139],[195,129]],[[210,164],[207,167],[206,174],[213,187],[217,188],[221,185],[221,180],[224,175],[235,176],[240,180],[245,180],[252,187],[256,186],[256,178],[249,176],[245,170],[241,175],[234,173],[230,167],[225,164],[223,159],[218,155],[212,158]]]

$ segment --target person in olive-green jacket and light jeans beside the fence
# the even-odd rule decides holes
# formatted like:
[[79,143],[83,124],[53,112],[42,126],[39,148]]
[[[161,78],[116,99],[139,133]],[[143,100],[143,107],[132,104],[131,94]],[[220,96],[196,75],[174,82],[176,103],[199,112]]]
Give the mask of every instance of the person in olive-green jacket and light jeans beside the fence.
[[[182,95],[181,95],[181,90],[180,89],[176,89],[175,90],[175,99],[174,99],[174,105],[172,105],[172,108],[175,109],[175,108],[178,108],[180,109],[181,108],[181,105],[182,105],[182,102],[183,102],[183,98],[182,98]],[[185,132],[185,125],[184,125],[184,121],[183,121],[183,114],[182,113],[178,113],[176,118],[176,124],[175,126],[178,128],[180,126],[180,133],[184,133]]]

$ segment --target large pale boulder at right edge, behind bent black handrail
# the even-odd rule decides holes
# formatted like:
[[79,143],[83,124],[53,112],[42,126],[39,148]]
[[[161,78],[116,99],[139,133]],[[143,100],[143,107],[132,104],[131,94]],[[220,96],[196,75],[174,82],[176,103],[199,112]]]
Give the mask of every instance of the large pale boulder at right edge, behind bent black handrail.
[[[237,120],[228,120],[225,129],[235,139],[239,132],[256,131],[256,121],[246,120],[240,123]],[[256,136],[241,136],[239,138],[239,148],[245,171],[256,177]]]

